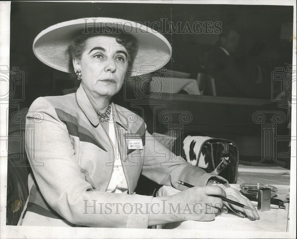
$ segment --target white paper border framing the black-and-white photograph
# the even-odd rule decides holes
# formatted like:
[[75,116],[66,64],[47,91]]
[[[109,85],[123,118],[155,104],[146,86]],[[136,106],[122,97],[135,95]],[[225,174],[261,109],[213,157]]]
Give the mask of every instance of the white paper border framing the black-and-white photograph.
[[[60,1],[59,1],[60,2]],[[155,4],[236,4],[293,6],[293,72],[296,79],[296,1],[73,1],[104,3]],[[9,66],[10,55],[10,2],[0,2],[0,65]],[[0,102],[0,237],[1,238],[296,238],[296,80],[292,82],[292,127],[290,171],[290,228],[289,232],[164,230],[84,227],[30,227],[6,225],[7,194],[7,133],[8,102]],[[0,81],[0,95],[9,91],[8,82]]]

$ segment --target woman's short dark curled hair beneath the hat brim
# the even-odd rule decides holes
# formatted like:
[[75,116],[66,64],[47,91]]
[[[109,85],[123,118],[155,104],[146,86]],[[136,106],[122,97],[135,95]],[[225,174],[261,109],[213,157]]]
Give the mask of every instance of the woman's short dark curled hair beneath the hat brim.
[[[72,60],[75,59],[81,59],[81,56],[86,48],[86,41],[87,39],[94,37],[94,36],[113,36],[116,38],[116,42],[121,44],[128,52],[127,60],[128,60],[128,67],[131,67],[135,58],[135,55],[138,50],[138,44],[137,40],[134,36],[131,34],[127,34],[124,32],[117,32],[117,33],[98,33],[98,34],[80,34],[78,36],[75,36],[72,39],[71,44],[69,45],[67,49],[67,54],[69,54],[69,68],[71,69],[73,67]],[[73,79],[73,83],[75,85],[79,85],[79,82],[73,73],[70,73],[71,78]]]

